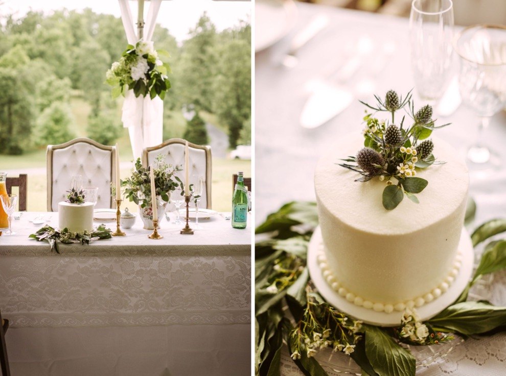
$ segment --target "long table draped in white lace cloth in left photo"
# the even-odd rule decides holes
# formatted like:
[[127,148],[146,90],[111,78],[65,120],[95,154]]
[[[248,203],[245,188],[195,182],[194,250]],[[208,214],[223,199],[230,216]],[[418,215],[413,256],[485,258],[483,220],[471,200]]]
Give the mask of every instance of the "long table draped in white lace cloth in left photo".
[[28,212],[0,236],[13,375],[249,374],[250,227],[214,215],[180,235],[164,218],[151,240],[137,218],[124,237],[57,254],[28,237],[40,215],[57,227],[58,213]]

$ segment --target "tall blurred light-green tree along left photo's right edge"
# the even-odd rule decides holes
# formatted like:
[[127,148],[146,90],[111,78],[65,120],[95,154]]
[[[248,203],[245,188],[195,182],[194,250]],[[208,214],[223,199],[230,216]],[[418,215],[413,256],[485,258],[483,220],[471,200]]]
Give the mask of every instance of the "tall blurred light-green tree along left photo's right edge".
[[236,147],[243,123],[251,117],[251,47],[242,39],[232,39],[221,46],[219,55],[214,108],[228,127],[229,145]]

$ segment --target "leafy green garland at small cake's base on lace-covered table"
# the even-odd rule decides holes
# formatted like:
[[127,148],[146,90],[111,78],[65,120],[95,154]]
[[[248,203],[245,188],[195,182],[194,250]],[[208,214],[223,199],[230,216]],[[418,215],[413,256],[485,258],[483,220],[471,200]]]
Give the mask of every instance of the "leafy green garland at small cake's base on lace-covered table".
[[56,253],[60,253],[60,249],[58,248],[58,242],[63,244],[72,244],[75,242],[79,242],[82,244],[89,244],[91,240],[94,238],[98,239],[110,239],[111,238],[111,230],[105,228],[105,224],[99,225],[97,230],[94,231],[85,231],[84,233],[75,233],[68,231],[67,228],[63,230],[55,230],[49,225],[45,225],[43,228],[38,230],[35,234],[29,235],[30,238],[36,239],[37,241],[48,241],[51,245],[51,252],[53,250]]

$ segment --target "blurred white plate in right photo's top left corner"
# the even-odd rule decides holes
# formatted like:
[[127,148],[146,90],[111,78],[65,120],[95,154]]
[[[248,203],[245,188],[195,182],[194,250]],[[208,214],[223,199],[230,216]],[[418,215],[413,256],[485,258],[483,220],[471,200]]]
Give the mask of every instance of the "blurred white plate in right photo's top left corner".
[[255,1],[255,52],[286,36],[295,25],[297,7],[293,0]]

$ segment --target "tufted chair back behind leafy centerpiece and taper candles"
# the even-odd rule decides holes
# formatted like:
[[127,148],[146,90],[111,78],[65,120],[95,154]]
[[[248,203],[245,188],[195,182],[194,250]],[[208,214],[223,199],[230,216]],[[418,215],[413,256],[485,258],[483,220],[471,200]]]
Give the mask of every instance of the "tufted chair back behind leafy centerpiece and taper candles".
[[[143,150],[142,158],[143,166],[147,167],[151,165],[159,154],[163,154],[167,156],[166,161],[168,164],[171,164],[172,166],[180,165],[182,168],[185,168],[185,144],[186,140],[181,138],[171,138],[157,146],[145,148]],[[189,142],[188,153],[190,162],[190,180],[192,179],[192,175],[194,173],[201,174],[204,178],[205,189],[202,192],[202,198],[200,199],[200,208],[211,209],[211,146],[197,145]],[[176,174],[178,178],[186,184],[185,171],[179,171]],[[169,204],[167,206],[168,212],[174,210],[174,204]]]

